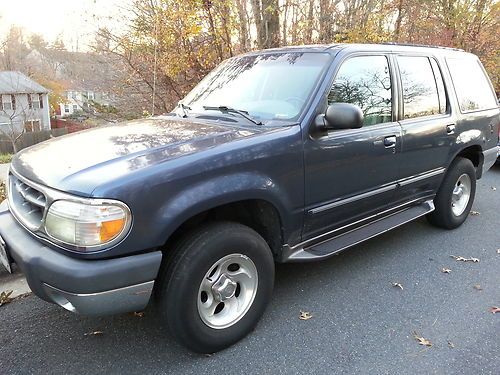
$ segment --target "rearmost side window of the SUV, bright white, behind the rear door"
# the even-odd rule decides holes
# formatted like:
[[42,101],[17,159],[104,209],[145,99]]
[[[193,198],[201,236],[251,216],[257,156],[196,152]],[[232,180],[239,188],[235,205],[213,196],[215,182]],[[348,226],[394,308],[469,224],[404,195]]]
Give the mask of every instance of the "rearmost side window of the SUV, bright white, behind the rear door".
[[462,112],[492,109],[498,106],[479,61],[472,58],[447,58],[446,62]]

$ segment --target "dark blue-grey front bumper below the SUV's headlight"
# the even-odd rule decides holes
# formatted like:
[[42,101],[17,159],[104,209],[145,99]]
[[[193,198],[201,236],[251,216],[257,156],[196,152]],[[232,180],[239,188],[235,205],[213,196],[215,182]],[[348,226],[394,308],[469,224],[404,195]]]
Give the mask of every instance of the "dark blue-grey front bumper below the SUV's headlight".
[[146,307],[162,253],[106,260],[69,257],[43,244],[0,204],[0,235],[38,297],[85,315],[139,311]]

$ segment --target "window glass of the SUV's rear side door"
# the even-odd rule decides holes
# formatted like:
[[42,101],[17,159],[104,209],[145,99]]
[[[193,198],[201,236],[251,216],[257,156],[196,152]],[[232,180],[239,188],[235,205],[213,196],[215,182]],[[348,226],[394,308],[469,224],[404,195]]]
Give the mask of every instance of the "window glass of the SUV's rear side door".
[[[438,84],[434,78],[429,58],[398,56],[397,59],[403,83],[404,118],[410,119],[445,113],[446,104],[443,106],[440,103]],[[444,86],[442,90],[444,95]]]

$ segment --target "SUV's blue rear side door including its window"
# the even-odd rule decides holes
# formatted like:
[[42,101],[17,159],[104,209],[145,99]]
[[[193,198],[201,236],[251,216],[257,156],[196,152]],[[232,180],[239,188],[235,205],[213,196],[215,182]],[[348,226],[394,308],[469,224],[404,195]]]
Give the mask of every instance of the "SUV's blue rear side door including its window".
[[438,60],[426,55],[395,55],[402,90],[399,187],[392,202],[399,205],[435,192],[455,143],[456,119]]

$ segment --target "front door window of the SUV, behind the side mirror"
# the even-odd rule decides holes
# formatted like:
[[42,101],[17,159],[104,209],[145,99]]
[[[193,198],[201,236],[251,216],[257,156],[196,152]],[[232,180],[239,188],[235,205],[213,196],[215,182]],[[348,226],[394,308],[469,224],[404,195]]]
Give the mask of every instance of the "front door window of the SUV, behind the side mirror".
[[363,125],[392,121],[392,85],[385,56],[357,56],[340,67],[328,104],[351,103],[361,108]]

